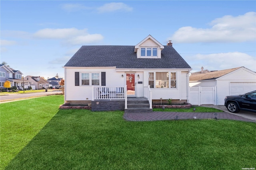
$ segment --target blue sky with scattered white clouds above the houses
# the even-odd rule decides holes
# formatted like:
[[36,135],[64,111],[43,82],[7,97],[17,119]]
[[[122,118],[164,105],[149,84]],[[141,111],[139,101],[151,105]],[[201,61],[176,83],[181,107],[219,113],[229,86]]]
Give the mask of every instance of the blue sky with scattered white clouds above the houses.
[[82,45],[136,45],[148,35],[192,67],[256,71],[256,1],[0,1],[1,58],[26,75],[64,77]]

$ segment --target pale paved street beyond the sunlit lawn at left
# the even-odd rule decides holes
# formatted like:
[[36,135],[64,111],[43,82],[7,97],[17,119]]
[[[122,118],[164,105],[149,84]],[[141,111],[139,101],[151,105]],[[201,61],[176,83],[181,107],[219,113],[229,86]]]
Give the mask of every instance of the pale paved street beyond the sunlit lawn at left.
[[37,92],[37,93],[10,93],[0,96],[0,103],[11,102],[20,99],[29,99],[31,97],[42,97],[54,94],[61,94],[61,90],[48,91],[48,92]]

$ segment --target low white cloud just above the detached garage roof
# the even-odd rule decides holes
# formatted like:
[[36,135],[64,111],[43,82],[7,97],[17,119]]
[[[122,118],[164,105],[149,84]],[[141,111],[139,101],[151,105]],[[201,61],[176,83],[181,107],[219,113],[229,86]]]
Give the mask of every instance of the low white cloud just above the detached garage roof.
[[184,59],[192,67],[192,72],[200,71],[202,66],[210,71],[242,66],[256,71],[256,57],[241,52],[197,54]]

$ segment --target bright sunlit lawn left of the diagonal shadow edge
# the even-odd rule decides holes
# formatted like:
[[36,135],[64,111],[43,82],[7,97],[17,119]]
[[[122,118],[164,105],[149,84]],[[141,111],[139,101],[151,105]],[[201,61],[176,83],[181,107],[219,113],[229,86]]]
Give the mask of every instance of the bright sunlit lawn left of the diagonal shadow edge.
[[0,104],[0,169],[52,119],[63,95]]

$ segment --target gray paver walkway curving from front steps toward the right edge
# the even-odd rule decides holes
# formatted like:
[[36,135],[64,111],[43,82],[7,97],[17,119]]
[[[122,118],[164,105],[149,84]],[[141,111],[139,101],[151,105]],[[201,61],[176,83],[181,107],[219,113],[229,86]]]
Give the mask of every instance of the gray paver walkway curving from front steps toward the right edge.
[[198,112],[150,112],[150,113],[124,113],[124,119],[127,121],[163,121],[178,119],[230,119],[236,121],[254,122],[237,115],[226,112],[218,113],[198,113]]

